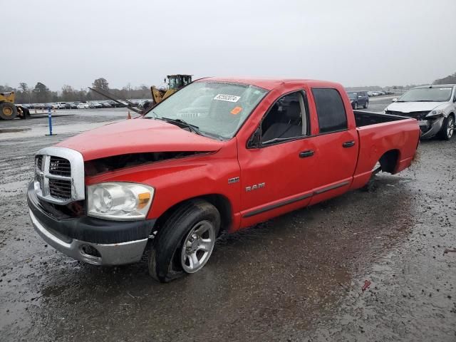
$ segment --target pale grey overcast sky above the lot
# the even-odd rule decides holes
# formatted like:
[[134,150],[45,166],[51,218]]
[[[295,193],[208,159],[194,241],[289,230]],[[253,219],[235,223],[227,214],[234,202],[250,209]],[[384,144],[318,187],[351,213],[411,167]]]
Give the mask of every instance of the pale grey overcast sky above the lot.
[[170,73],[429,83],[456,72],[456,0],[0,0],[0,84]]

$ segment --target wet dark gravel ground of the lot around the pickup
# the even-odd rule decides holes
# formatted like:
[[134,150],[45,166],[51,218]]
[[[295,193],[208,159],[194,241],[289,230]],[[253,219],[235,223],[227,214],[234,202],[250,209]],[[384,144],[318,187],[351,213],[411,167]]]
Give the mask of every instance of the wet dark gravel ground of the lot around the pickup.
[[56,252],[28,219],[34,152],[125,117],[63,111],[53,137],[46,117],[0,122],[0,341],[456,341],[456,139],[422,142],[370,192],[222,237],[202,271],[157,284],[146,264]]

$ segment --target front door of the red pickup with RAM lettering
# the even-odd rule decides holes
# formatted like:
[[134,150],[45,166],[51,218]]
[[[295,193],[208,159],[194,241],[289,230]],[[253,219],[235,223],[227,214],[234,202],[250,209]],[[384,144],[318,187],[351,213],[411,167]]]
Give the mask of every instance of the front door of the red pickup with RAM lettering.
[[314,143],[304,90],[284,95],[259,126],[259,145],[239,146],[242,227],[309,204]]

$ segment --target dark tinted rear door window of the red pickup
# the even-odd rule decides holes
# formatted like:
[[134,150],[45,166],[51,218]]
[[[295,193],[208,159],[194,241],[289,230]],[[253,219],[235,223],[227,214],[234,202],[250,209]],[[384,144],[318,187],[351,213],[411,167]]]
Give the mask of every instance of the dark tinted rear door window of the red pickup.
[[348,128],[347,115],[341,94],[333,88],[312,88],[320,133],[336,132]]

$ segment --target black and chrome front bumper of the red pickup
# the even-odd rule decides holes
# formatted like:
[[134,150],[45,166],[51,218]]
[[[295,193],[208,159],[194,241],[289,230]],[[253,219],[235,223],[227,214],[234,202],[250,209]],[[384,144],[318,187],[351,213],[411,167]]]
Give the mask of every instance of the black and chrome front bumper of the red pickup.
[[43,240],[68,257],[88,264],[140,261],[155,224],[155,219],[113,222],[92,217],[53,217],[41,207],[33,183],[28,187],[27,202],[33,227]]

